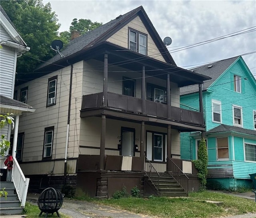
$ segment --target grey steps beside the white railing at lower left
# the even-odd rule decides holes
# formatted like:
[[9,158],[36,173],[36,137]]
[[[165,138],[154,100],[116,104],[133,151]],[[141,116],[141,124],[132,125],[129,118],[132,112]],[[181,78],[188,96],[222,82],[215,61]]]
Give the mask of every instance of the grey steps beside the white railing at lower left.
[[20,207],[20,201],[14,184],[12,182],[0,182],[0,189],[5,188],[8,193],[7,197],[0,197],[0,215],[17,215],[23,213],[23,208]]

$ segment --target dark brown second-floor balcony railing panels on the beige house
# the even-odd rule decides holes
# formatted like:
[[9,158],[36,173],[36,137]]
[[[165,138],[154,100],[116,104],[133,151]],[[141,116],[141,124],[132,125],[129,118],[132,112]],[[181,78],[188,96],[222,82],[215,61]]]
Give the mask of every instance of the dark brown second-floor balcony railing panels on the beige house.
[[168,110],[168,104],[142,100],[142,98],[112,92],[107,92],[106,105],[103,103],[103,92],[84,95],[82,98],[81,117],[97,116],[106,113],[109,116],[118,116],[124,119],[172,124],[180,131],[204,130],[201,112],[175,106],[170,106],[170,110]]

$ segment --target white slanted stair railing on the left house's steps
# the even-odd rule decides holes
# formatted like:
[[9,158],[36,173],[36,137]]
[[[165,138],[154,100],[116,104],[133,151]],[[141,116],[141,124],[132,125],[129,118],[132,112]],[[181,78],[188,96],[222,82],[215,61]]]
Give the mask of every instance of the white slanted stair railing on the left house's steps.
[[18,194],[18,198],[21,202],[21,206],[24,207],[28,193],[29,178],[26,178],[24,176],[20,165],[15,157],[13,157],[12,181]]

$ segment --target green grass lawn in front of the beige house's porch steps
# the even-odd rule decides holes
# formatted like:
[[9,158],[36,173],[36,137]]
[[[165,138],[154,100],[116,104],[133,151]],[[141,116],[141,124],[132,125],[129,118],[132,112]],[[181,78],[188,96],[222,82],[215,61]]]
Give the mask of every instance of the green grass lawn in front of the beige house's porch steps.
[[[222,205],[207,203],[206,200],[223,201]],[[130,212],[157,217],[220,217],[256,212],[256,203],[245,198],[218,192],[191,192],[188,198],[121,198],[93,200],[97,204],[109,205]]]

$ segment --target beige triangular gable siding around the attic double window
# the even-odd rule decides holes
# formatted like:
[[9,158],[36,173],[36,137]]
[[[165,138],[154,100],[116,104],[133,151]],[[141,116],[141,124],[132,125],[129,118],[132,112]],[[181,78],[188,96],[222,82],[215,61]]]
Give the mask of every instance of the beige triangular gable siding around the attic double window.
[[114,33],[111,37],[109,37],[106,41],[114,43],[116,45],[122,46],[124,48],[128,48],[128,27],[138,30],[142,33],[145,33],[148,35],[148,56],[152,57],[154,59],[157,59],[159,61],[166,62],[162,55],[160,54],[160,51],[156,47],[152,37],[148,33],[148,30],[142,23],[142,20],[139,16],[134,18],[131,22],[129,22],[126,26],[122,27],[120,30],[118,30],[116,33]]

